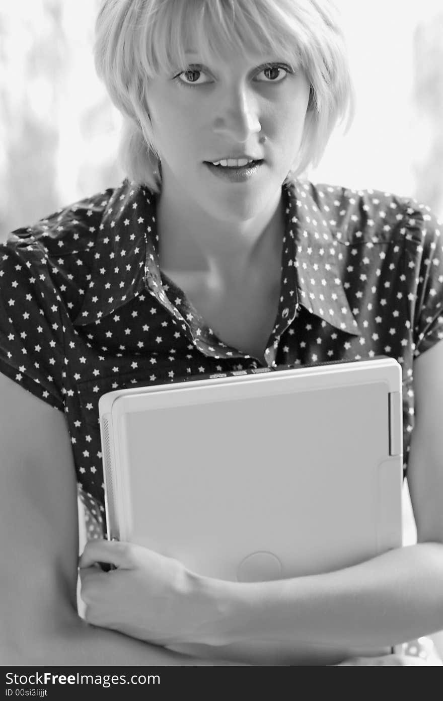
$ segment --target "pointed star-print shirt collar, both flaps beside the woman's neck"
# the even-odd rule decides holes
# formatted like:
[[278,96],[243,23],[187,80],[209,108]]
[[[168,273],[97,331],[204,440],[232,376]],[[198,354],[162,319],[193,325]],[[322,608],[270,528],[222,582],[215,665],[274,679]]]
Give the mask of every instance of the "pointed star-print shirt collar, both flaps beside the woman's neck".
[[[339,275],[339,244],[318,206],[318,191],[299,181],[282,191],[287,205],[282,262],[297,290],[296,304],[341,331],[360,335]],[[123,181],[104,207],[94,250],[75,325],[97,322],[143,292],[175,313],[161,285],[154,192]]]

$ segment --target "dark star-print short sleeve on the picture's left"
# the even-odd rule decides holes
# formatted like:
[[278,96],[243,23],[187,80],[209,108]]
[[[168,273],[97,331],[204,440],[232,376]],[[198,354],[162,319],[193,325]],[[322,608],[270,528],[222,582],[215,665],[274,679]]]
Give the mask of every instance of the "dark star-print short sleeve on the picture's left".
[[32,235],[0,245],[0,372],[64,411],[62,299]]

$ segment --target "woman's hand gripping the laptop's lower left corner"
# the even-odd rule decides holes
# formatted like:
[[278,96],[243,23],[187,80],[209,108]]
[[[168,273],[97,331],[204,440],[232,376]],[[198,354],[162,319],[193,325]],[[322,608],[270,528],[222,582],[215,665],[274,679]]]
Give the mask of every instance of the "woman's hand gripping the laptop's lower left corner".
[[[97,564],[116,569],[104,572]],[[171,557],[139,545],[90,540],[79,562],[88,623],[158,645],[207,643],[217,617],[200,580]]]

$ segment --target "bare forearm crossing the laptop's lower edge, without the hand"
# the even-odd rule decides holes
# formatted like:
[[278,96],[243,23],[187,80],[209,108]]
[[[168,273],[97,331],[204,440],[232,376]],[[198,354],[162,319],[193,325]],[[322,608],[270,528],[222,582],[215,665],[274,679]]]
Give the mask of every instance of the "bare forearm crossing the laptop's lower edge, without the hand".
[[[258,583],[203,581],[223,612],[215,638],[391,646],[443,629],[443,545],[390,550],[314,576]],[[213,633],[213,632],[212,632]],[[214,638],[214,635],[212,634]]]

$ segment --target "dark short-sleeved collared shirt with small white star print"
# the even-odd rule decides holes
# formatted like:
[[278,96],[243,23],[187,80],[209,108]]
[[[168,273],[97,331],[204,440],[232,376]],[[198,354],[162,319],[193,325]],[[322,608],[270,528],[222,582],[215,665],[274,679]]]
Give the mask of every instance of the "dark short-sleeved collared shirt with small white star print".
[[[295,181],[282,197],[281,292],[266,365],[395,358],[406,470],[413,360],[443,339],[439,223],[414,200],[379,191]],[[149,189],[125,180],[0,246],[0,372],[64,411],[90,537],[104,532],[100,395],[259,367],[162,273]]]

